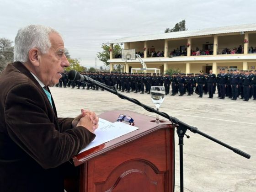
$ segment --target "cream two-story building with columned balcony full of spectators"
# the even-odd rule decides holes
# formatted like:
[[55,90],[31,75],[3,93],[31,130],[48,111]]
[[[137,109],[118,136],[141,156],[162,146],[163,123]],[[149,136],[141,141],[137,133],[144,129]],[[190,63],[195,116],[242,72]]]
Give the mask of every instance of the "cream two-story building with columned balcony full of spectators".
[[[115,43],[124,49],[135,49],[147,68],[179,69],[182,73],[218,73],[219,69],[255,70],[256,24],[124,37],[110,44],[110,70],[124,65],[124,72],[141,68],[139,59],[124,61],[112,54]],[[119,56],[120,57],[120,56]]]

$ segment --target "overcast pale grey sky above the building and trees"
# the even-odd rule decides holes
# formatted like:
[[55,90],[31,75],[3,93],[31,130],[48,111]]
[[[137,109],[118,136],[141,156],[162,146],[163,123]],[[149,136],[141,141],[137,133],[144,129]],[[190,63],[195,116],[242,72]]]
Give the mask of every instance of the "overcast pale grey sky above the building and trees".
[[256,23],[255,9],[256,0],[0,0],[0,37],[14,41],[21,27],[48,25],[72,58],[93,67],[102,43],[164,33],[183,19],[188,30]]

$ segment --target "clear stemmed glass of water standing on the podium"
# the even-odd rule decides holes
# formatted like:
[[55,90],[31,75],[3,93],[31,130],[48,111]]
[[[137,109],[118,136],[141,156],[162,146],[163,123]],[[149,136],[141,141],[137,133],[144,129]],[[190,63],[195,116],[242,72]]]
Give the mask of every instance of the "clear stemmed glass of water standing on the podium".
[[[165,87],[151,86],[150,96],[151,96],[152,102],[155,104],[156,110],[159,111],[159,107],[165,100]],[[158,114],[156,115],[155,123],[160,123]]]

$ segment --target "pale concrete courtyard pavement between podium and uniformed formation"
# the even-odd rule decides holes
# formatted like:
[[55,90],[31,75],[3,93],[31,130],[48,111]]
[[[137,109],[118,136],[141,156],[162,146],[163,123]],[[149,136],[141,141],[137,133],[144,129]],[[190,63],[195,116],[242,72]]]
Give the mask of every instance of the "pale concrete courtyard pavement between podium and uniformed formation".
[[[107,91],[71,88],[50,88],[59,117],[75,117],[81,108],[96,114],[110,110],[130,110],[146,115],[145,111],[129,101],[122,100]],[[154,107],[150,96],[124,95]],[[199,134],[191,133],[184,139],[184,191],[185,192],[256,192],[256,101],[230,99],[219,100],[192,96],[165,96],[160,111],[177,117],[237,149],[251,155],[246,159]],[[179,192],[179,146],[176,142],[175,191]]]

